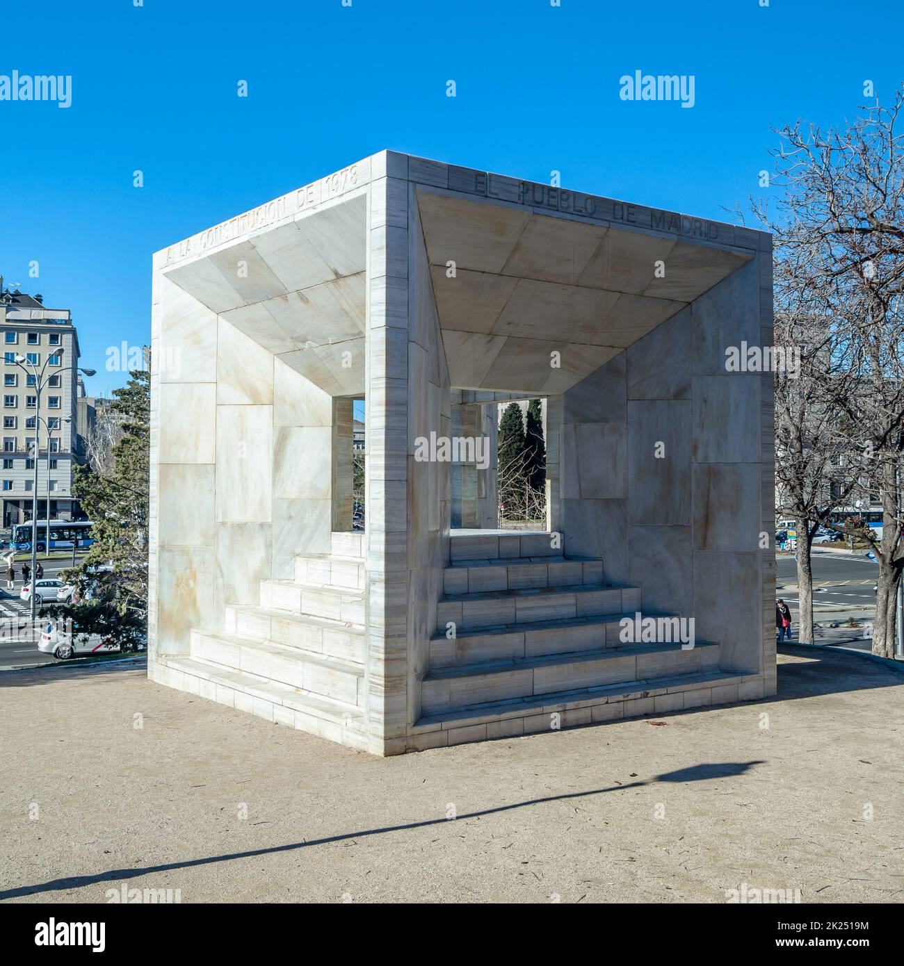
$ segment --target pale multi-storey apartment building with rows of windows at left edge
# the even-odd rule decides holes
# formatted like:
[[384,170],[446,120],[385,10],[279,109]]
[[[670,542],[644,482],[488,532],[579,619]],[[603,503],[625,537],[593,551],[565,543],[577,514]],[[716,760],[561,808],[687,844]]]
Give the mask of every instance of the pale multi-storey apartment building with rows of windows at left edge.
[[[38,518],[73,520],[80,516],[73,500],[76,439],[76,369],[78,336],[69,309],[47,308],[40,295],[3,288],[0,276],[0,342],[3,348],[3,467],[0,497],[3,526],[30,520],[35,486],[34,440],[38,438]],[[15,364],[15,356],[33,363],[49,377],[37,405],[34,376]],[[84,390],[82,389],[82,392]],[[42,420],[40,423],[38,422]],[[49,430],[49,440],[48,440]]]

